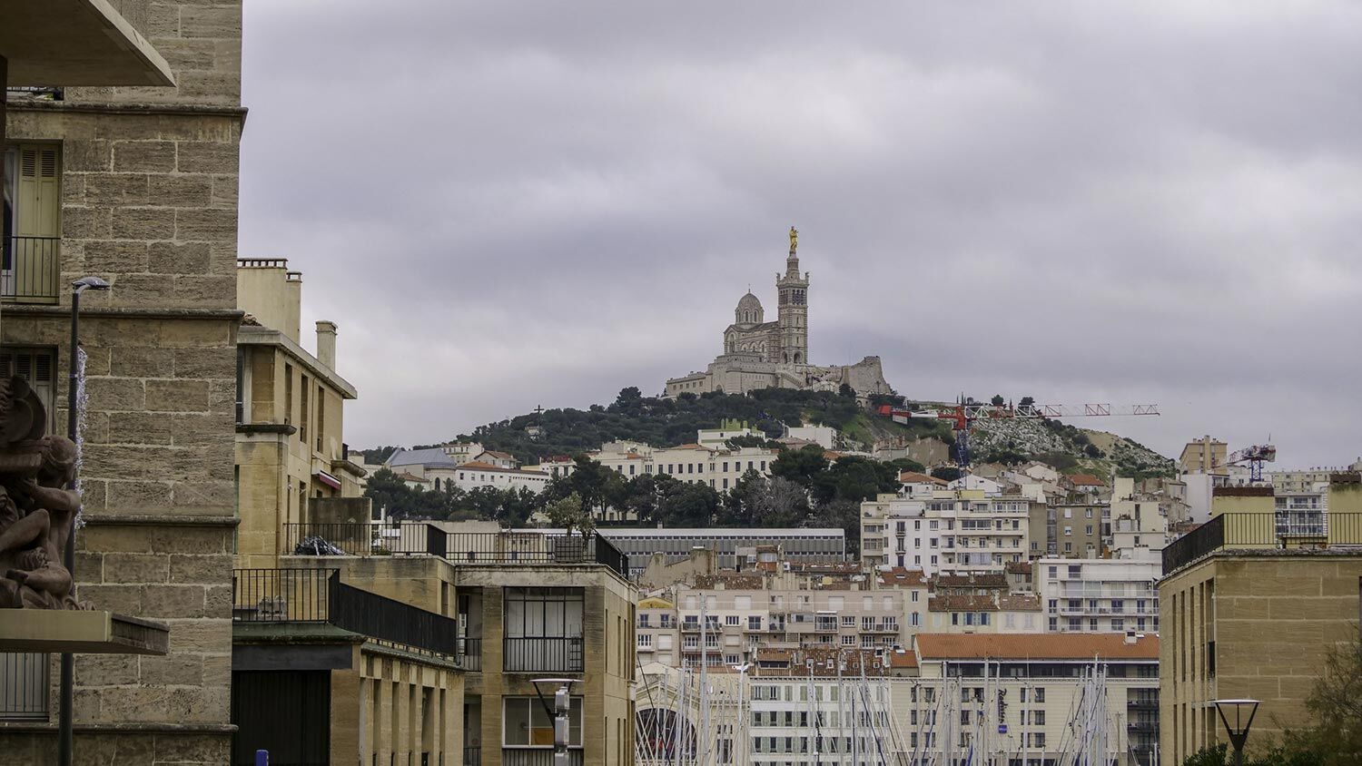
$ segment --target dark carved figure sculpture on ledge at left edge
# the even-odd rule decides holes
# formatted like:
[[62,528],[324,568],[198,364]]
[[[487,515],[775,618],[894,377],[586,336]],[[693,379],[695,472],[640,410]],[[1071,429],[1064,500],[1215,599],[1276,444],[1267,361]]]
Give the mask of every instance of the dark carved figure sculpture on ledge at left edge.
[[86,608],[61,561],[80,510],[76,445],[45,435],[46,419],[23,378],[0,381],[0,608]]

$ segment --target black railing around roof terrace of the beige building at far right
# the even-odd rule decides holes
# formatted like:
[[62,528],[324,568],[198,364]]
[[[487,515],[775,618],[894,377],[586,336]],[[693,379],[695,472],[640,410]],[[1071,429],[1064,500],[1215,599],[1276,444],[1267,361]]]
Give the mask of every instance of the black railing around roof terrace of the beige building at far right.
[[1222,513],[1163,548],[1170,574],[1220,548],[1280,548],[1287,544],[1362,546],[1362,513]]

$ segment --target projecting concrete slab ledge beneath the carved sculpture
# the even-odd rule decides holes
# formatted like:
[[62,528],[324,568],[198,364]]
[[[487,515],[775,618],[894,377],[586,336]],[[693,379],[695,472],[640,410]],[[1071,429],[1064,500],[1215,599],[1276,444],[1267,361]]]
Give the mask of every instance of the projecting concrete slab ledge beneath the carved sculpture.
[[170,630],[155,622],[80,610],[0,610],[0,652],[165,654]]

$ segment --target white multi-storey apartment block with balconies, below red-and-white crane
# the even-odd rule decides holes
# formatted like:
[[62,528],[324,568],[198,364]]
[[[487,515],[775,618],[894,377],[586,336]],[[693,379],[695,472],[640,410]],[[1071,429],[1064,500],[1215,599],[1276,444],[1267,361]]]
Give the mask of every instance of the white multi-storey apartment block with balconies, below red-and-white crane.
[[937,490],[930,499],[878,495],[861,503],[866,566],[938,571],[1004,571],[1030,550],[1031,502],[979,490]]

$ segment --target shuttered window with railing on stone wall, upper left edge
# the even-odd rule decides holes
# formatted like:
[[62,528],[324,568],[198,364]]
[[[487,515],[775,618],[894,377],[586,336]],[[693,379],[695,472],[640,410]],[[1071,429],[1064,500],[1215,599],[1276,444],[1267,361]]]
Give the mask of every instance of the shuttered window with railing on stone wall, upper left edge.
[[0,297],[56,303],[60,293],[61,150],[16,144],[5,152]]

